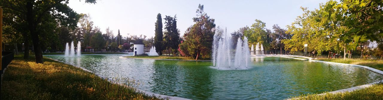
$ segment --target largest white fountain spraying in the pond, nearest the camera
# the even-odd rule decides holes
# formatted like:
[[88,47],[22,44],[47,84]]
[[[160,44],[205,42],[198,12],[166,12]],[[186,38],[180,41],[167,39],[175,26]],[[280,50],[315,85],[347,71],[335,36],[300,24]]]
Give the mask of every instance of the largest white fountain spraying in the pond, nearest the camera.
[[[250,50],[247,37],[238,38],[235,50],[232,50],[231,36],[227,32],[214,34],[213,66],[219,69],[247,69],[250,62]],[[235,51],[235,53],[232,53]],[[232,58],[231,56],[234,56]]]

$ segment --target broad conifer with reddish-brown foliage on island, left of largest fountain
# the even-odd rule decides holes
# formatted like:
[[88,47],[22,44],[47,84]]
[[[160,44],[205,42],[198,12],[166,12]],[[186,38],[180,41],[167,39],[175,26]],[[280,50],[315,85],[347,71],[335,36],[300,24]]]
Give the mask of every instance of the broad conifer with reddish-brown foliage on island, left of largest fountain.
[[205,11],[203,5],[198,5],[196,10],[197,16],[193,18],[195,24],[188,28],[184,34],[185,42],[181,47],[187,47],[188,52],[193,58],[209,59],[211,57],[211,50],[213,46],[214,36],[214,19],[211,19]]

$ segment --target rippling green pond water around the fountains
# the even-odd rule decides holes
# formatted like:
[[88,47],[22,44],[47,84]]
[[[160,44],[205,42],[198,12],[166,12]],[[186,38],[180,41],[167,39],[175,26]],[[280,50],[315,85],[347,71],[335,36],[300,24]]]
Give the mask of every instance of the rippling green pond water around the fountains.
[[291,58],[252,58],[246,70],[219,70],[207,61],[124,59],[129,55],[46,56],[106,77],[127,76],[141,90],[194,100],[280,100],[383,79],[370,70]]

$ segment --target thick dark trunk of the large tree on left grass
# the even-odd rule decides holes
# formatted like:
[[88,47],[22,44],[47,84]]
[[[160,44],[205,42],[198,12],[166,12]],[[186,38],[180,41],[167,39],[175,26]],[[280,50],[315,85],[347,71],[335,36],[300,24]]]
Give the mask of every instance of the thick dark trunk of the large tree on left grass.
[[36,63],[43,63],[43,52],[40,47],[40,41],[39,41],[39,35],[36,32],[36,25],[34,21],[34,15],[33,15],[33,1],[28,1],[26,3],[27,8],[27,22],[28,22],[28,28],[29,32],[31,33],[32,42],[33,42],[33,49],[34,49],[34,55]]

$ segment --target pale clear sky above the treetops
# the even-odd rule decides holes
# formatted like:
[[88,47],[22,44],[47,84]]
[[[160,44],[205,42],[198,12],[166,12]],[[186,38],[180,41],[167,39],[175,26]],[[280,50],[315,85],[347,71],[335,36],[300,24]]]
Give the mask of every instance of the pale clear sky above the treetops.
[[[204,11],[215,19],[216,26],[226,27],[229,33],[240,27],[251,26],[255,19],[266,23],[267,29],[273,24],[282,28],[302,15],[300,7],[308,10],[319,8],[326,0],[98,0],[96,4],[85,0],[70,0],[69,7],[77,13],[91,16],[93,26],[101,28],[103,33],[110,27],[114,34],[118,29],[122,36],[146,35],[154,37],[154,23],[157,14],[162,18],[177,15],[177,28],[181,36],[194,24],[193,17],[198,4],[204,5]],[[162,19],[163,26],[164,19]]]

